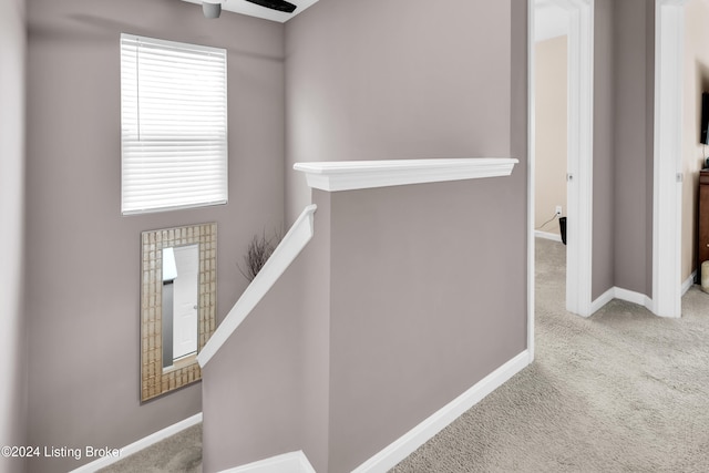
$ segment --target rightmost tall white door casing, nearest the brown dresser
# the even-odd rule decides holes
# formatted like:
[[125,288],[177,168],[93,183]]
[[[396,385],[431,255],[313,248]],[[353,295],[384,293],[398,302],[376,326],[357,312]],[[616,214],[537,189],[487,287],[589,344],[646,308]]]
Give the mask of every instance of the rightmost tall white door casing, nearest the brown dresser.
[[655,163],[653,302],[661,317],[681,316],[681,136],[686,0],[655,3]]

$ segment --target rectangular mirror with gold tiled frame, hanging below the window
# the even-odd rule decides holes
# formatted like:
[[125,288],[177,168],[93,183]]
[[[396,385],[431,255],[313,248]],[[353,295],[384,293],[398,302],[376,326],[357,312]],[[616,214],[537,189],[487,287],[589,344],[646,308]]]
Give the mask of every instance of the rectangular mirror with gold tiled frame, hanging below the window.
[[216,327],[216,224],[143,232],[141,400],[202,379]]

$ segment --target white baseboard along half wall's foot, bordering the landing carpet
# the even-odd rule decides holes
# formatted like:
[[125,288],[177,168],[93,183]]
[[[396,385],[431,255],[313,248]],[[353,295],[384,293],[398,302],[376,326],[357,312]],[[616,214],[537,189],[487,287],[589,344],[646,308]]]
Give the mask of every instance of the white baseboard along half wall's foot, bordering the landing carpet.
[[528,350],[514,357],[463,394],[455,398],[427,420],[407,432],[399,440],[377,453],[374,456],[352,470],[352,473],[386,472],[413,453],[433,435],[448,426],[465,411],[482,401],[487,394],[504,384],[510,378],[532,362]]

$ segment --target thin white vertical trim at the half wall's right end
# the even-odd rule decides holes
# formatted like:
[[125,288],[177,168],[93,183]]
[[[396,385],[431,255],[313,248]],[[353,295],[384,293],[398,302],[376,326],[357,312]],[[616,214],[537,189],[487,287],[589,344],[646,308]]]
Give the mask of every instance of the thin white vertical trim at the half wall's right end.
[[534,323],[536,319],[536,240],[534,238],[534,220],[536,213],[536,81],[534,73],[536,42],[535,0],[527,0],[527,350],[530,362],[534,361],[536,345],[534,341]]

